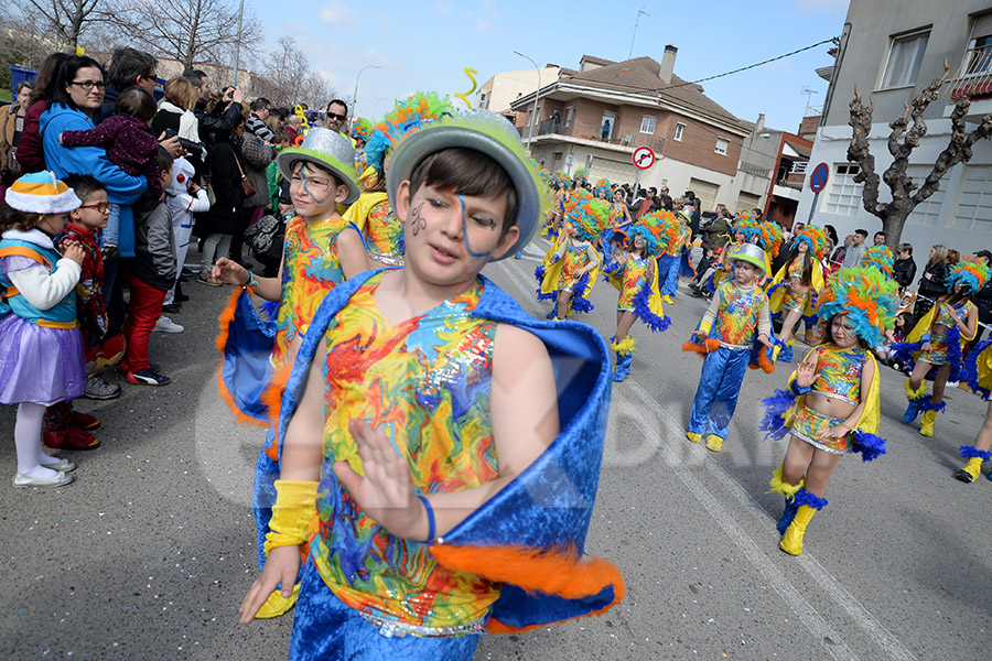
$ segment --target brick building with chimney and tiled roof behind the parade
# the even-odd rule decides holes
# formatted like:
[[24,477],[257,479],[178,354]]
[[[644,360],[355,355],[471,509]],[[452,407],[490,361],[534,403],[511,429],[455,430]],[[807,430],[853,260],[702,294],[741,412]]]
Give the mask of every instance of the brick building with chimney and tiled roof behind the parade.
[[660,63],[583,55],[578,71],[562,68],[537,91],[537,113],[535,93],[513,101],[510,108],[525,117],[518,127],[535,160],[552,172],[589,167],[593,181],[633,184],[632,155],[646,145],[657,161],[644,172],[641,186],[666,184],[675,195],[691,189],[704,209],[716,202],[733,208],[740,191],[734,176],[751,124],[701,86],[676,76],[677,52],[666,46]]

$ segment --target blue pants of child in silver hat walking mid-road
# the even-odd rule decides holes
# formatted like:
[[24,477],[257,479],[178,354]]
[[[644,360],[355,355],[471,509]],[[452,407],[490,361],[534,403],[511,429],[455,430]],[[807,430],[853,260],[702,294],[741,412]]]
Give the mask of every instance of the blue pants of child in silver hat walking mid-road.
[[737,395],[750,359],[750,350],[726,347],[707,356],[692,402],[690,432],[726,438],[726,427],[737,408]]

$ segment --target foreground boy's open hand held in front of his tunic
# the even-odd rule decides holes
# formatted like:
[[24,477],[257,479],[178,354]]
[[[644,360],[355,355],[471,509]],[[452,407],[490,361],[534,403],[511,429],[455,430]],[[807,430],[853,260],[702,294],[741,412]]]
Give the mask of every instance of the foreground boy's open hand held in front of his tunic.
[[413,492],[413,480],[406,459],[397,454],[382,432],[353,420],[348,431],[358,445],[365,476],[347,462],[334,463],[334,475],[355,502],[375,521],[398,538],[424,540],[427,513]]

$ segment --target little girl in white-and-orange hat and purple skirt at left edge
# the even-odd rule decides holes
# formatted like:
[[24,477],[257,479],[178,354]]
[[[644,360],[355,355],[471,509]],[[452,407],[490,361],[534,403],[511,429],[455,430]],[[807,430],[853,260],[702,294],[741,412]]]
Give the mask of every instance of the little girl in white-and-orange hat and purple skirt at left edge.
[[57,487],[73,481],[76,464],[45,454],[45,408],[83,397],[83,337],[76,294],[83,246],[52,242],[79,198],[51,172],[26,174],[0,205],[0,403],[17,404],[15,487]]

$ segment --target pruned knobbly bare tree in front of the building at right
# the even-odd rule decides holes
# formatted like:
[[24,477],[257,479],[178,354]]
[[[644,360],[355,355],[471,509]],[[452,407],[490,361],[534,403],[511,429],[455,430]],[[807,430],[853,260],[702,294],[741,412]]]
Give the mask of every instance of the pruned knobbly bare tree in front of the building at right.
[[[898,119],[893,120],[888,127],[892,133],[888,136],[888,153],[893,155],[892,165],[888,166],[881,180],[875,173],[875,158],[872,155],[869,144],[869,133],[872,130],[872,111],[875,102],[865,108],[861,102],[861,95],[854,89],[854,99],[851,101],[851,119],[848,124],[854,129],[851,144],[848,147],[848,159],[861,166],[861,172],[854,176],[855,183],[864,182],[862,191],[862,204],[864,210],[877,216],[882,220],[882,229],[887,237],[888,247],[896,251],[903,226],[906,218],[924,202],[937,192],[940,180],[947,171],[959,163],[968,163],[972,156],[972,145],[979,140],[992,138],[992,115],[982,118],[978,127],[968,131],[964,118],[971,107],[971,99],[967,95],[955,98],[955,109],[951,111],[951,137],[947,148],[937,156],[934,169],[924,180],[923,186],[918,186],[907,174],[909,156],[913,150],[919,147],[920,139],[927,134],[927,124],[923,116],[927,107],[937,99],[940,87],[944,85],[950,68],[944,63],[944,75],[935,78],[926,89],[920,91],[912,101],[906,104],[906,111]],[[909,120],[913,127],[907,132]],[[880,181],[884,181],[892,192],[892,202],[878,202]],[[918,188],[918,189],[917,189]],[[914,193],[914,191],[916,191]]]

